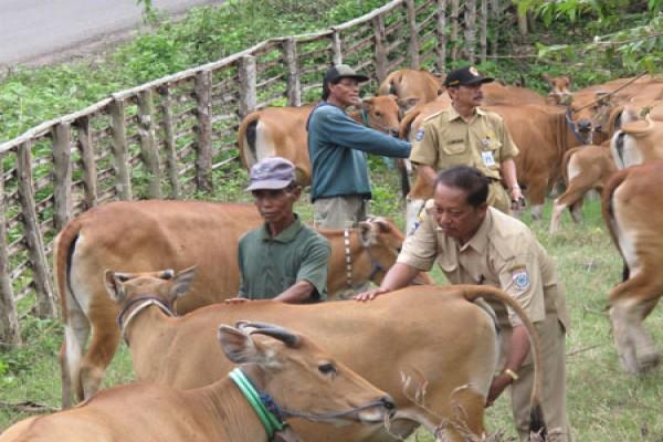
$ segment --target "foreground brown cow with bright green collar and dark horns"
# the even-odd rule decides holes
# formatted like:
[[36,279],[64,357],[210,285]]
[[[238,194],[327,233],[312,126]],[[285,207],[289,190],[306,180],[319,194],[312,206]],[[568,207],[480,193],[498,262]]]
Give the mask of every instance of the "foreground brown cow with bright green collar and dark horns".
[[[325,423],[375,425],[393,409],[383,391],[305,336],[251,323],[240,328],[221,325],[217,335],[225,356],[242,365],[232,376],[221,380],[218,376],[214,383],[191,391],[156,383],[116,387],[74,409],[19,422],[0,435],[0,441],[266,442],[273,440],[282,419],[292,415],[304,414]],[[152,350],[168,347],[165,344]],[[220,351],[212,347],[208,351],[221,359]],[[278,427],[267,430],[263,425],[249,396],[238,388],[242,380],[253,387],[256,397],[259,392],[271,397],[283,412],[276,418]],[[270,406],[265,402],[263,410],[271,410]],[[284,436],[298,441],[290,429]]]

